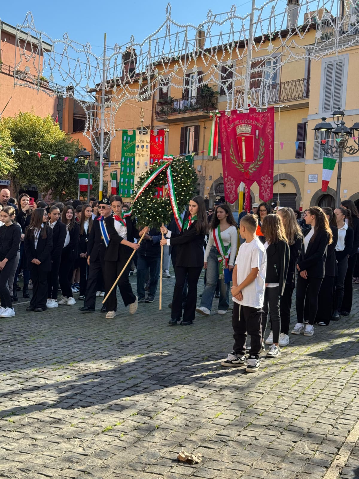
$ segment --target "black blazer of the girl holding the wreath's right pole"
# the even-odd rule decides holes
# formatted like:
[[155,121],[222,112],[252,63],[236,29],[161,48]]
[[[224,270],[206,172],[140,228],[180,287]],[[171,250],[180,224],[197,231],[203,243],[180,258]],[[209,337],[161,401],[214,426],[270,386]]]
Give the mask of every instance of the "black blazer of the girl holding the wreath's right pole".
[[171,246],[178,246],[176,265],[178,266],[201,266],[204,264],[203,243],[205,235],[197,234],[196,221],[194,221],[190,228],[182,230],[179,234],[171,234],[169,244]]

